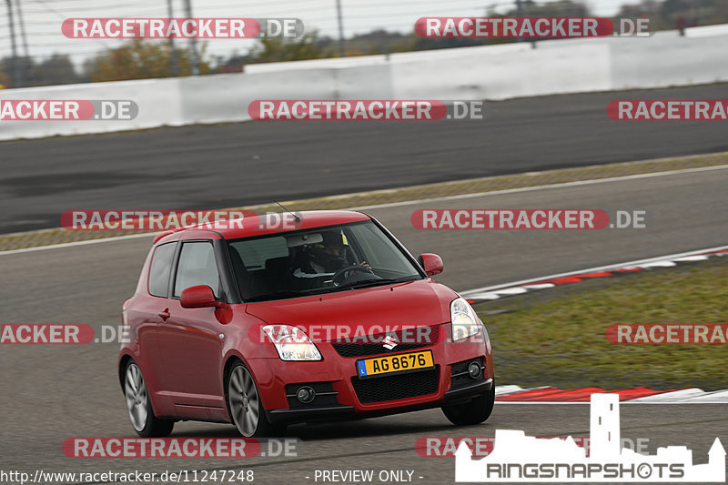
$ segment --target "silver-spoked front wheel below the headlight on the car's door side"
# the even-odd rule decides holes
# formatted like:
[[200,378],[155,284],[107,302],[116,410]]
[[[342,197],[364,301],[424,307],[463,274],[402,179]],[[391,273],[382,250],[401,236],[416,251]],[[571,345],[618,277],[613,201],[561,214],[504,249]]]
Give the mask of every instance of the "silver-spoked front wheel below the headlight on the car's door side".
[[285,426],[268,421],[256,382],[242,362],[236,362],[227,378],[227,409],[238,432],[246,438],[280,436]]

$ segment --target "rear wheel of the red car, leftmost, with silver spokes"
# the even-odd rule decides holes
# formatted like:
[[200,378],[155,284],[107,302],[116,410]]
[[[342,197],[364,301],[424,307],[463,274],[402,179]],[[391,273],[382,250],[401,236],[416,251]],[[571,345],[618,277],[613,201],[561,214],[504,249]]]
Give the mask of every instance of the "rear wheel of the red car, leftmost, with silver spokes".
[[169,419],[158,419],[152,409],[147,384],[142,371],[134,360],[129,360],[124,370],[124,397],[129,420],[142,438],[165,438],[172,432],[175,422]]

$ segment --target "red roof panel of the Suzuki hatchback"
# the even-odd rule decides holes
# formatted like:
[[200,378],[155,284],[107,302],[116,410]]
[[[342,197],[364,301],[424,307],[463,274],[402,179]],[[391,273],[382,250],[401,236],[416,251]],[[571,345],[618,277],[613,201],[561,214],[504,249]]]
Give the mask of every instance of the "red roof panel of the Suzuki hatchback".
[[[348,224],[371,218],[362,212],[350,210],[308,210],[297,212],[296,216],[300,218],[300,222],[296,222],[294,216],[290,213],[276,212],[261,215],[251,214],[246,217],[217,223],[179,227],[157,234],[154,238],[154,244],[178,239],[198,238],[201,230],[209,231],[211,238],[237,239],[238,237],[262,236],[290,230]],[[281,217],[285,217],[282,219],[282,223],[278,222]],[[260,227],[261,223],[264,224],[263,227]],[[213,234],[218,236],[212,237]]]

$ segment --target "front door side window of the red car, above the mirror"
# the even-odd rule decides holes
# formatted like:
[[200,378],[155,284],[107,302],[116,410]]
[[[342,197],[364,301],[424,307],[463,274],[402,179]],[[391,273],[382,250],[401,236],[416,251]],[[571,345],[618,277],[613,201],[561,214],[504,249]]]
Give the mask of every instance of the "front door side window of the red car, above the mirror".
[[215,251],[210,242],[188,242],[182,244],[175,278],[174,296],[178,298],[182,290],[197,285],[212,288],[219,296],[220,276],[215,263]]

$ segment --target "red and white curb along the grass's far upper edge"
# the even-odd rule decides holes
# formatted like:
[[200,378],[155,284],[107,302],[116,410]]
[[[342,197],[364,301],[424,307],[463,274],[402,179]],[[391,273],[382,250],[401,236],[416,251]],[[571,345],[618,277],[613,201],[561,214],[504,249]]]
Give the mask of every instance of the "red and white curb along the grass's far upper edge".
[[511,297],[513,295],[521,295],[538,289],[554,288],[569,283],[580,283],[584,279],[588,278],[609,278],[647,269],[672,268],[677,265],[693,263],[695,261],[704,261],[708,258],[722,257],[726,255],[728,255],[728,246],[699,249],[687,253],[661,256],[659,258],[641,259],[637,261],[619,263],[616,265],[602,266],[599,268],[581,269],[579,271],[550,275],[542,278],[525,279],[523,281],[515,281],[492,287],[470,289],[468,291],[460,292],[460,296],[467,299],[470,303],[479,303],[482,301]]

